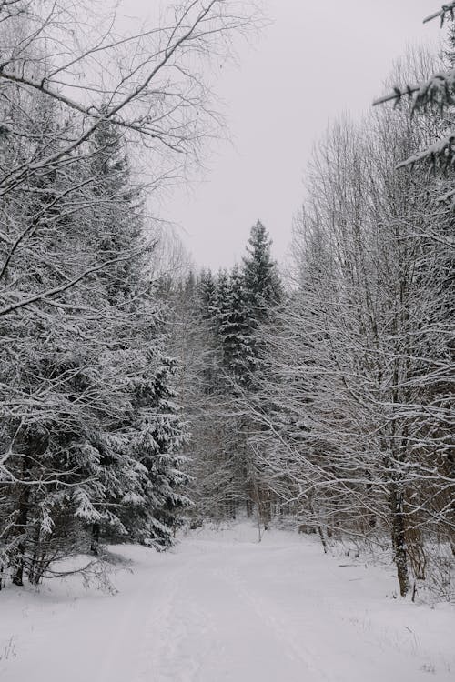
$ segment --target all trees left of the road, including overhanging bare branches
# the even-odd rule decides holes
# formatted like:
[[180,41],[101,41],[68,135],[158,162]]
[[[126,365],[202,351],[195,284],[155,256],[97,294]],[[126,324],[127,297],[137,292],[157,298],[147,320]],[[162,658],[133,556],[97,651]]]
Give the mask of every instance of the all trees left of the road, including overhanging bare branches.
[[0,0],[0,587],[166,548],[189,504],[149,202],[216,133],[194,70],[252,20],[197,0],[135,33],[76,9]]

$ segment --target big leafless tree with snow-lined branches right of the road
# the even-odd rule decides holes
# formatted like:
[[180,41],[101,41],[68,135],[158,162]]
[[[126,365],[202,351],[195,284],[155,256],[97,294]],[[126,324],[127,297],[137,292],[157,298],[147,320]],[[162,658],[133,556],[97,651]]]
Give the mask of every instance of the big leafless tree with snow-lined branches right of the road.
[[445,180],[395,171],[434,131],[417,123],[406,111],[345,120],[319,144],[298,288],[251,410],[265,426],[251,438],[258,473],[281,505],[325,545],[387,531],[402,595],[411,576],[434,575],[427,541],[447,547],[454,530],[452,214]]

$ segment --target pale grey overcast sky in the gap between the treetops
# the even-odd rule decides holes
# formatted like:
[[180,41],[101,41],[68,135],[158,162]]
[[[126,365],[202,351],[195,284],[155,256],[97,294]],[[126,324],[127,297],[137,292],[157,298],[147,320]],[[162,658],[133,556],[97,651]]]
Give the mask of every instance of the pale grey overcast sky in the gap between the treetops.
[[217,84],[233,145],[218,145],[205,179],[162,206],[198,266],[232,266],[258,218],[282,260],[311,146],[337,115],[367,110],[406,45],[440,38],[439,23],[422,19],[441,0],[262,4],[273,23],[252,49],[240,46],[240,66],[225,67]]

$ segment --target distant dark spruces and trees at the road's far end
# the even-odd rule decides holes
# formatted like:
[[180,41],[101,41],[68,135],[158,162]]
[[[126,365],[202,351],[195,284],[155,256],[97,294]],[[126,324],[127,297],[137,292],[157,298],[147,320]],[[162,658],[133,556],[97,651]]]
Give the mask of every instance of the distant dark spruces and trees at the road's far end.
[[250,420],[239,400],[258,390],[263,328],[272,324],[284,297],[270,246],[258,221],[239,266],[161,278],[161,296],[174,313],[169,326],[171,347],[180,358],[177,396],[190,432],[193,526],[240,512],[250,516],[260,506],[248,452]]

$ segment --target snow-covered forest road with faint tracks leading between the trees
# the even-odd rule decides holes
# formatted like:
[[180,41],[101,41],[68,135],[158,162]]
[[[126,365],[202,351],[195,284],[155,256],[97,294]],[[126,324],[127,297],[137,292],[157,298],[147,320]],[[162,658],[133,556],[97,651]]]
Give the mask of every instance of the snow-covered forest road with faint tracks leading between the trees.
[[453,681],[455,668],[436,664],[408,616],[377,617],[365,567],[342,570],[317,542],[287,537],[184,540],[167,555],[148,617],[127,628],[134,676],[122,677],[120,653],[102,682]]

